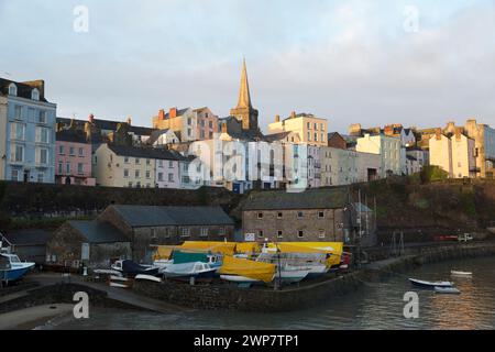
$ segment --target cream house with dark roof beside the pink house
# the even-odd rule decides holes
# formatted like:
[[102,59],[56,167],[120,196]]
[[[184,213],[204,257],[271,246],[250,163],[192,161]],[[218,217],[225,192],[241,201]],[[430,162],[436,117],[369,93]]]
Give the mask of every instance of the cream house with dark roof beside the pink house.
[[95,153],[97,185],[106,187],[155,186],[153,148],[101,144]]

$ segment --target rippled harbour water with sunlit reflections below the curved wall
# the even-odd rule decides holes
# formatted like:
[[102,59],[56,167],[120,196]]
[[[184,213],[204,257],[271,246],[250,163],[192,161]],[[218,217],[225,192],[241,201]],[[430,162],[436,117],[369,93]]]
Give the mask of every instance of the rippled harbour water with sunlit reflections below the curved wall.
[[[455,278],[451,270],[473,272]],[[413,287],[407,277],[452,280],[459,296]],[[406,319],[404,295],[419,295],[419,318]],[[494,329],[495,257],[429,264],[380,283],[365,283],[356,293],[318,308],[286,314],[238,311],[170,311],[167,315],[92,309],[89,319],[64,318],[41,329]]]

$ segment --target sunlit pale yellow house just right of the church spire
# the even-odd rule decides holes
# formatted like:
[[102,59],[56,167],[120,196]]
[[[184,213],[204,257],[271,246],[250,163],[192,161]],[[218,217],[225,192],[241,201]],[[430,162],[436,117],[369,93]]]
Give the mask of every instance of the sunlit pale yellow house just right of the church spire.
[[296,114],[293,111],[290,117],[283,121],[279,116],[276,116],[275,122],[268,124],[268,132],[271,134],[294,132],[299,135],[300,143],[316,146],[328,145],[328,121],[314,114]]

